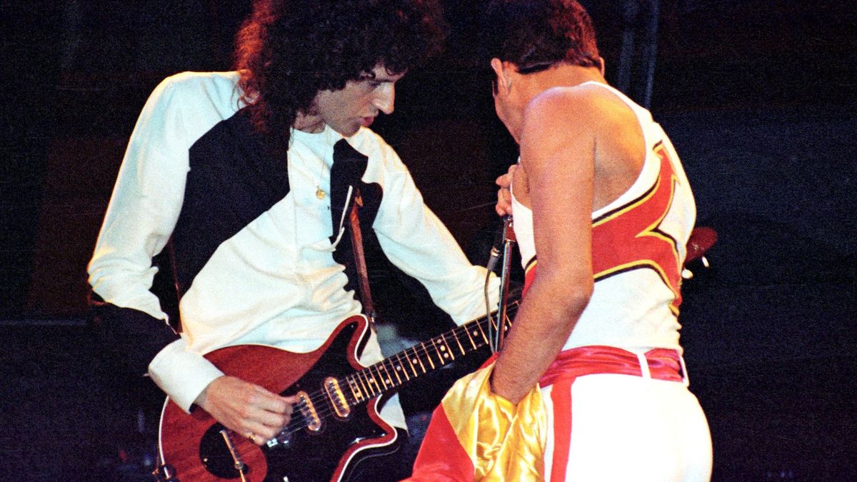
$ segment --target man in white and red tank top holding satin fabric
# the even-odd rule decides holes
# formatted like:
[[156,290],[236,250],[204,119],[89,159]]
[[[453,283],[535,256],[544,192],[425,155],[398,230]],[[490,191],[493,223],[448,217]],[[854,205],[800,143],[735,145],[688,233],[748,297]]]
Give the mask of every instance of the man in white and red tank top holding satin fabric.
[[577,2],[495,0],[486,18],[494,106],[520,145],[497,212],[514,215],[524,298],[494,365],[435,411],[413,479],[707,480],[679,343],[696,216],[679,157],[604,80]]

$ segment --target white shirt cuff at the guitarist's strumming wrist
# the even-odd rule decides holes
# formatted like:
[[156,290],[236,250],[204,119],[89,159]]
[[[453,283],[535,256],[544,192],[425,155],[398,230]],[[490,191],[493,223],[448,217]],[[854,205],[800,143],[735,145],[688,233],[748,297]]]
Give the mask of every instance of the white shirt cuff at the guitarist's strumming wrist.
[[187,413],[196,397],[224,373],[202,355],[189,352],[184,337],[164,347],[149,364],[149,376]]

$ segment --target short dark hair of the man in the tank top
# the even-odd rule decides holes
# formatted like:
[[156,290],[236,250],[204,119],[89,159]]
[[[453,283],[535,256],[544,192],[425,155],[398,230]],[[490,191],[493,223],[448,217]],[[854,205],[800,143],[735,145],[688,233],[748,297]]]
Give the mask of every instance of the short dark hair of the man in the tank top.
[[560,62],[601,65],[592,20],[575,0],[494,0],[482,42],[485,57],[514,63],[524,74]]

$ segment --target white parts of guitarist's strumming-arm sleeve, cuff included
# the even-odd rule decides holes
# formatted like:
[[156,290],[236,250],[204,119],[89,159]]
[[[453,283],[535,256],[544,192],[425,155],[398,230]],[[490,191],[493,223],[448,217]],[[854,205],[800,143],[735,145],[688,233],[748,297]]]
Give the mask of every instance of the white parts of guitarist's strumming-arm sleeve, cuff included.
[[[164,249],[181,212],[192,142],[180,89],[171,79],[155,88],[137,120],[88,267],[93,291],[107,303],[165,322],[167,315],[150,291],[157,272],[152,258]],[[185,347],[183,339],[166,346],[149,371],[187,411],[222,373]]]

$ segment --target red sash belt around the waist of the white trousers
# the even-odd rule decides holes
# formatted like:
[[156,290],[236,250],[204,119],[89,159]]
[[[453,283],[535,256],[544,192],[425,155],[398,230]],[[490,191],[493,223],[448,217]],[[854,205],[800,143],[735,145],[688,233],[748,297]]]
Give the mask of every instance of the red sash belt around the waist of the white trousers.
[[[557,355],[554,363],[548,366],[539,379],[539,386],[546,387],[560,380],[598,373],[650,377],[668,382],[685,380],[684,365],[675,350],[655,348],[645,352],[642,357],[644,365],[636,353],[615,346],[578,346]],[[648,376],[646,371],[649,372]]]

